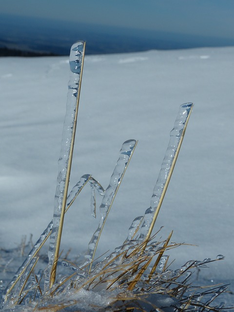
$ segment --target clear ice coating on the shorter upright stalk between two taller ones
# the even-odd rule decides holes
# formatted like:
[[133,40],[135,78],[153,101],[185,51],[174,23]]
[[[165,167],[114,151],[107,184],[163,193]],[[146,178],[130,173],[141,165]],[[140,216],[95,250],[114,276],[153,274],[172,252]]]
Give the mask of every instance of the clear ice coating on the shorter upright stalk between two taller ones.
[[[100,233],[102,231],[103,225],[105,223],[105,220],[110,211],[113,200],[117,193],[118,186],[127,168],[128,162],[132,156],[134,148],[136,147],[136,144],[137,144],[137,141],[134,139],[127,140],[123,143],[121,150],[119,151],[119,158],[117,160],[116,167],[111,176],[109,186],[107,187],[105,191],[105,195],[100,205],[100,221],[98,224],[98,228],[93,234],[91,241],[89,243],[88,251],[85,254],[85,258],[88,263],[91,262],[93,259],[93,256],[95,254],[95,250],[98,244]],[[87,264],[87,262],[85,263],[85,265]]]

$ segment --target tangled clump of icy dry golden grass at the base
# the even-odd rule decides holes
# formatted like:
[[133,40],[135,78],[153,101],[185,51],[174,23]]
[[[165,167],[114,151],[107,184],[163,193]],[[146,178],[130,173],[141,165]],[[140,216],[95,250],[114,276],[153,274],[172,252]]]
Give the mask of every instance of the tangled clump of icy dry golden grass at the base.
[[[171,233],[172,234],[172,233]],[[8,298],[6,308],[26,311],[222,311],[215,298],[225,286],[195,287],[190,279],[195,268],[212,261],[189,261],[180,269],[170,269],[165,254],[180,244],[170,244],[156,236],[139,244],[125,241],[100,262],[81,268],[68,259],[60,260],[58,281],[49,292],[43,290],[43,273],[31,276],[15,297]],[[145,246],[145,244],[147,244]],[[63,269],[65,268],[65,269]],[[32,268],[33,269],[33,268]],[[68,274],[67,270],[72,270]]]

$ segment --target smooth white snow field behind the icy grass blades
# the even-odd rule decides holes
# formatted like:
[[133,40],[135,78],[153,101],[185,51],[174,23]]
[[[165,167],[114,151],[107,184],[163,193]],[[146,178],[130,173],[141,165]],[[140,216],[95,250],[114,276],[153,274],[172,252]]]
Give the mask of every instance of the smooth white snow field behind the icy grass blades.
[[[155,232],[197,245],[170,251],[174,268],[223,254],[200,274],[234,282],[233,68],[234,47],[85,57],[70,186],[92,174],[106,188],[121,144],[139,140],[97,256],[149,207],[179,105],[194,102]],[[36,241],[52,219],[68,79],[68,57],[0,58],[0,247]],[[89,202],[87,185],[65,216],[62,249],[86,251],[98,224]]]

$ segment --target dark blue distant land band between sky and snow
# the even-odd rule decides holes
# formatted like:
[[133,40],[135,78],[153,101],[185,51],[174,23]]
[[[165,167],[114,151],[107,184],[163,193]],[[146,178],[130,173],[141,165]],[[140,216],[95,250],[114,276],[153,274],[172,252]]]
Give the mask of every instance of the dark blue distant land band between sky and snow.
[[234,46],[232,39],[0,14],[0,56],[69,55],[77,40],[87,41],[87,55]]

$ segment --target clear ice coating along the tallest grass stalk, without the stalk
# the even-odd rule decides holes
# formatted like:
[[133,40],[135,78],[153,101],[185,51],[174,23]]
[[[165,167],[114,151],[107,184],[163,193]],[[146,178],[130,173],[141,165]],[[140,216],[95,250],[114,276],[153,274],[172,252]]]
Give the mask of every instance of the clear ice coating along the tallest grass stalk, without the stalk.
[[63,207],[63,198],[65,192],[65,183],[67,178],[67,170],[71,151],[72,138],[75,135],[75,126],[77,118],[77,101],[79,93],[79,84],[82,68],[82,59],[84,52],[84,42],[78,41],[71,47],[70,52],[70,80],[68,82],[68,94],[66,104],[66,115],[64,119],[61,152],[59,157],[59,174],[57,179],[57,188],[55,194],[55,206],[53,216],[53,229],[50,235],[50,244],[48,250],[49,263],[45,272],[45,289],[49,287],[49,280],[52,265],[55,258],[55,244],[59,234],[59,223]]

